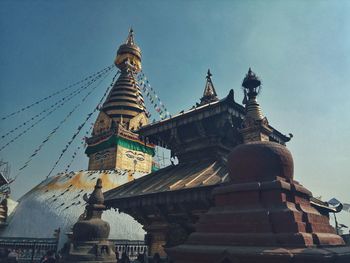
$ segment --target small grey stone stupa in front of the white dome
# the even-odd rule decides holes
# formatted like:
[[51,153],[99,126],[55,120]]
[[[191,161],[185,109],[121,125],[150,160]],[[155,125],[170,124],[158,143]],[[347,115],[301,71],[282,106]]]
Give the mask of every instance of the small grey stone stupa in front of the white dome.
[[97,179],[85,213],[73,226],[73,234],[63,249],[63,262],[112,263],[116,261],[113,243],[108,241],[110,226],[101,219],[104,205],[102,180]]

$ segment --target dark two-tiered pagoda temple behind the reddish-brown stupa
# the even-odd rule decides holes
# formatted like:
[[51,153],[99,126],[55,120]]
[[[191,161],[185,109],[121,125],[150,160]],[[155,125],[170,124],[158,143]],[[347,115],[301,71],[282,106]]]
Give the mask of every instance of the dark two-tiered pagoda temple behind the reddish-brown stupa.
[[[249,71],[247,78],[253,77]],[[255,97],[247,108],[259,108]],[[151,253],[165,256],[164,248],[182,244],[201,214],[213,204],[214,188],[229,181],[227,156],[244,141],[245,116],[264,121],[266,130],[255,136],[285,145],[290,138],[267,123],[266,118],[246,113],[234,92],[219,99],[208,71],[202,98],[192,109],[142,126],[137,132],[150,142],[161,142],[179,160],[172,165],[105,193],[105,204],[118,208],[140,222],[147,231]],[[248,127],[247,127],[248,128]],[[251,134],[251,133],[250,133]]]

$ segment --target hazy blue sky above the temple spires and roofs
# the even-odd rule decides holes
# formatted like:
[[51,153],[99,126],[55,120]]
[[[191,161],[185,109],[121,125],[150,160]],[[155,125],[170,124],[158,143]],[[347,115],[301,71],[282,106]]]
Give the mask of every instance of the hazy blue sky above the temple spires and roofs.
[[[324,200],[350,202],[349,10],[346,0],[2,0],[1,116],[112,64],[133,26],[144,71],[171,113],[198,101],[208,68],[219,96],[234,89],[241,102],[240,84],[251,66],[263,81],[259,101],[270,123],[294,134],[288,147],[295,178]],[[44,179],[107,85],[108,80],[18,177],[14,197]],[[0,152],[13,175],[78,101]],[[50,104],[1,122],[1,134],[45,105]],[[81,151],[74,169],[86,168]],[[341,220],[350,225],[349,213]]]

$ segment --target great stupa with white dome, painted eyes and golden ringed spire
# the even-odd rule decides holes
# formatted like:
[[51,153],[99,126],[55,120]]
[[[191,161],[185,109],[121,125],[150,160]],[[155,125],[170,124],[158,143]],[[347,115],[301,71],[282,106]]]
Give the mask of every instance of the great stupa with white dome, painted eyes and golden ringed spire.
[[[62,247],[84,214],[83,196],[92,192],[97,179],[107,191],[152,171],[155,146],[133,132],[148,124],[148,117],[135,78],[141,70],[141,50],[132,30],[117,51],[115,65],[119,77],[86,140],[88,169],[46,178],[23,195],[13,211],[7,209],[6,200],[1,202],[0,222],[6,222],[0,223],[0,237],[51,238],[60,229]],[[145,231],[131,216],[106,211],[103,219],[111,225],[109,238],[144,240]]]

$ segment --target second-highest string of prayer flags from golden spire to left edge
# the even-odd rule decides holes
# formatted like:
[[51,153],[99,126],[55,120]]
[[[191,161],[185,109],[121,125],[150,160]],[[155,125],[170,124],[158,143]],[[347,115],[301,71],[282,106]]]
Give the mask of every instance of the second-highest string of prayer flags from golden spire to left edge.
[[[101,74],[97,75],[97,77],[95,77],[95,78],[92,79],[91,81],[94,82],[95,80],[99,79],[100,77],[102,77],[102,75],[104,75],[104,74],[106,74],[106,73],[108,73],[108,71],[102,72]],[[91,82],[91,81],[90,81],[90,82]],[[21,123],[21,124],[18,125],[17,127],[15,127],[15,128],[13,128],[12,130],[8,131],[7,133],[1,135],[1,139],[6,138],[8,135],[10,135],[10,134],[12,134],[13,132],[17,131],[18,129],[20,129],[20,128],[26,126],[28,123],[30,123],[31,121],[33,121],[33,120],[39,118],[42,114],[44,114],[45,112],[49,111],[50,109],[56,107],[56,106],[59,105],[60,103],[63,102],[63,104],[65,104],[66,102],[68,102],[69,100],[71,100],[71,99],[69,99],[70,97],[73,98],[73,97],[75,97],[76,95],[80,94],[81,91],[87,89],[87,88],[90,86],[90,84],[92,83],[92,82],[91,82],[91,83],[90,83],[90,82],[88,82],[88,84],[86,84],[86,85],[80,86],[79,88],[75,89],[74,91],[72,91],[71,93],[69,93],[68,95],[66,95],[65,97],[61,98],[61,99],[60,99],[59,101],[57,101],[56,103],[50,105],[48,108],[46,108],[46,109],[44,109],[43,111],[39,112],[38,114],[34,115],[34,116],[31,117],[30,119],[26,120],[25,122]],[[56,107],[51,113],[53,113],[54,111],[56,111],[56,110],[59,109],[59,108],[60,108],[60,107]],[[47,117],[47,115],[45,116],[45,118],[46,118],[46,117]],[[43,118],[43,119],[45,119],[45,118]]]

